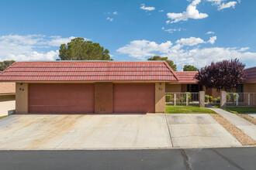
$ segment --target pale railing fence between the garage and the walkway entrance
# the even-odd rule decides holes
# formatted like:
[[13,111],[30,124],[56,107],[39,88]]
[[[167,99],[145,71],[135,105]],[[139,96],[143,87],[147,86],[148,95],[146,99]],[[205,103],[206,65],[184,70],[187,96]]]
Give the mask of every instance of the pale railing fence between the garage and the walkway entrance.
[[199,93],[165,93],[166,106],[199,106]]

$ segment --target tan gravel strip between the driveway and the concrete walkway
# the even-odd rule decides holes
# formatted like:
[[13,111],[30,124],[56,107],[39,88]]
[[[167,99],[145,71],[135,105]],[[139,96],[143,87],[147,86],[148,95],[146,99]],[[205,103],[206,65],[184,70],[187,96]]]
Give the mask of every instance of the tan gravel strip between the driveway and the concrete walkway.
[[234,124],[231,124],[229,121],[227,121],[227,119],[220,116],[220,114],[209,115],[211,115],[220,125],[222,125],[223,128],[230,132],[230,134],[232,134],[234,138],[236,138],[241,143],[241,145],[256,145],[256,141],[254,141],[254,139],[234,126]]

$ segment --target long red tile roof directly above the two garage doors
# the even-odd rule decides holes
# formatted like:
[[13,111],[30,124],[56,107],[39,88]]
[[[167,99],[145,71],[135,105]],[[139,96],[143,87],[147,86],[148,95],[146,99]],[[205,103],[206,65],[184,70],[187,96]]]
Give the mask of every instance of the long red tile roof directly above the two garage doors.
[[16,62],[0,81],[178,81],[165,62]]

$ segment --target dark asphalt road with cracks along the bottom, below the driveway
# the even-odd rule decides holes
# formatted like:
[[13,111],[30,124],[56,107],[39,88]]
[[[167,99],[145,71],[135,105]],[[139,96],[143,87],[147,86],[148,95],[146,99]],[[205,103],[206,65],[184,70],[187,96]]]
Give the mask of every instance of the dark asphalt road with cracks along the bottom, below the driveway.
[[255,169],[256,148],[0,151],[1,169]]

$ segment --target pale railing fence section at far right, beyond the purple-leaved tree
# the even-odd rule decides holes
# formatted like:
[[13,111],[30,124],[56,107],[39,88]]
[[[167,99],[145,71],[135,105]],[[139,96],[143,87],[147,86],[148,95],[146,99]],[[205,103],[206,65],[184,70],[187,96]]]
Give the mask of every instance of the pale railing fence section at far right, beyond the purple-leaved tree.
[[227,93],[227,107],[256,107],[256,93]]

